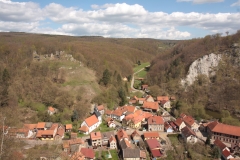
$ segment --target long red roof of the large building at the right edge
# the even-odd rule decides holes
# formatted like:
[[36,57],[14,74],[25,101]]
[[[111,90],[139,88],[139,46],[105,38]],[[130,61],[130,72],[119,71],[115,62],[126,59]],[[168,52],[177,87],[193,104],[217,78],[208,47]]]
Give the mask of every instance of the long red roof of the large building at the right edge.
[[218,123],[217,121],[215,121],[210,123],[208,127],[212,132],[240,136],[240,127],[237,126],[231,126],[223,123]]

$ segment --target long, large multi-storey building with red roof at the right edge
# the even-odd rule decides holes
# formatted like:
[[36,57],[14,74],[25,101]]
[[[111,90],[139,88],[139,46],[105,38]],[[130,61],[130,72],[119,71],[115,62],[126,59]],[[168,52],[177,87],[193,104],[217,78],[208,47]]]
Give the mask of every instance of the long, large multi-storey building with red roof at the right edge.
[[212,140],[219,139],[225,143],[237,144],[236,146],[240,143],[240,127],[238,126],[213,121],[207,125],[206,130]]

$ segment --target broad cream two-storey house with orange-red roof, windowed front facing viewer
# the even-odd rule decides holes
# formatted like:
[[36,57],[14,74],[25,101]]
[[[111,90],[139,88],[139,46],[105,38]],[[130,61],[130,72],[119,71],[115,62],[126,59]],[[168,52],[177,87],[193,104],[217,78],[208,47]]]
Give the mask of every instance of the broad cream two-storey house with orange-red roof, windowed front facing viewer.
[[164,120],[161,116],[152,116],[148,118],[149,131],[164,131]]

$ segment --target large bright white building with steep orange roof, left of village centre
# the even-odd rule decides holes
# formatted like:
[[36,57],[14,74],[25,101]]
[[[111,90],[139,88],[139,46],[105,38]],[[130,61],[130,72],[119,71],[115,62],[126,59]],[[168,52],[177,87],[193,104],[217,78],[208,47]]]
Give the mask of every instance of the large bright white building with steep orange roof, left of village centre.
[[101,124],[101,122],[99,121],[99,119],[96,117],[95,114],[93,114],[92,116],[86,118],[83,121],[83,123],[81,124],[81,127],[78,129],[78,131],[83,134],[89,134],[93,130],[95,130],[97,127],[99,127],[100,124]]

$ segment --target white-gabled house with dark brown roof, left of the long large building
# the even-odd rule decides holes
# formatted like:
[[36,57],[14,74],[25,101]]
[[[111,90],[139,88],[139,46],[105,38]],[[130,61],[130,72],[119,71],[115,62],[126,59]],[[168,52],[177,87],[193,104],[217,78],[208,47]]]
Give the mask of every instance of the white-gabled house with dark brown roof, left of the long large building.
[[197,135],[188,126],[185,126],[183,129],[181,129],[181,135],[184,141],[187,143],[197,142]]

